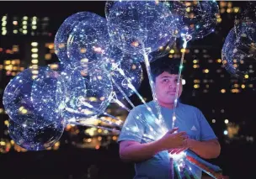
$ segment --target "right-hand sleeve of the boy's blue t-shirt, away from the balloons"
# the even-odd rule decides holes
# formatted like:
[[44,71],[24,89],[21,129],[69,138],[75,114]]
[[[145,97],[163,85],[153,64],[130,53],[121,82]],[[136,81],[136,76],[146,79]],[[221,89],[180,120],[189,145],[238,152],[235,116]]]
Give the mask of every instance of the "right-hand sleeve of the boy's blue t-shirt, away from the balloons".
[[216,140],[216,134],[213,129],[211,129],[211,125],[206,120],[204,114],[198,109],[198,118],[200,124],[200,140]]

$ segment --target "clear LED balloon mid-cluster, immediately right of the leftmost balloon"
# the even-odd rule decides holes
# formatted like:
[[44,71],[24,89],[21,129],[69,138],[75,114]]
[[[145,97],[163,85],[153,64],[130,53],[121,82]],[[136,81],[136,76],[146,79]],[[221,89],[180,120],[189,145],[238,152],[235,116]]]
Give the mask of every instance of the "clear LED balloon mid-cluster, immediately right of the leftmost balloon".
[[65,119],[90,118],[104,113],[112,90],[112,83],[103,69],[88,72],[83,67],[67,67],[57,84],[56,101]]

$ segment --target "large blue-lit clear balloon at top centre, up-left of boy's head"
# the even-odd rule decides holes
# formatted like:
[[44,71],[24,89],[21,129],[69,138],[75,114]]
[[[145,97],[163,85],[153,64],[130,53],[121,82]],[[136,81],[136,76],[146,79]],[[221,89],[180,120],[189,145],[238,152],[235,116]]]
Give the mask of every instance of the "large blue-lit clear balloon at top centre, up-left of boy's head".
[[126,53],[151,52],[175,40],[173,16],[161,2],[107,2],[105,13],[110,38]]

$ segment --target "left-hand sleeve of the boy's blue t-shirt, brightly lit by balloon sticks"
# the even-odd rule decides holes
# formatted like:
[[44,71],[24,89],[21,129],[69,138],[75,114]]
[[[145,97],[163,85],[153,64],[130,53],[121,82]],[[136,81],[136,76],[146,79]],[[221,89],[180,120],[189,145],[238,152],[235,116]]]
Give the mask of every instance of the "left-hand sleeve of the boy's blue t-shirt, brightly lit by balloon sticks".
[[122,127],[118,142],[122,140],[132,140],[140,142],[144,134],[144,124],[142,122],[140,108],[133,108],[125,119],[125,124]]

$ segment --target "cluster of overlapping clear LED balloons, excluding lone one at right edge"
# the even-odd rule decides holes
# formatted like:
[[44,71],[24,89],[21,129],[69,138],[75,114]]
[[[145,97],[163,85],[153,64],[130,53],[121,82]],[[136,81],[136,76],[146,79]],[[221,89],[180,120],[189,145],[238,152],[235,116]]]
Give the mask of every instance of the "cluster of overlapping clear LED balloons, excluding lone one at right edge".
[[73,14],[55,37],[61,70],[32,66],[8,83],[3,104],[10,136],[27,150],[50,147],[70,118],[97,118],[113,97],[136,92],[145,53],[155,61],[180,34],[210,34],[217,15],[215,1],[113,1],[105,5],[106,18]]

